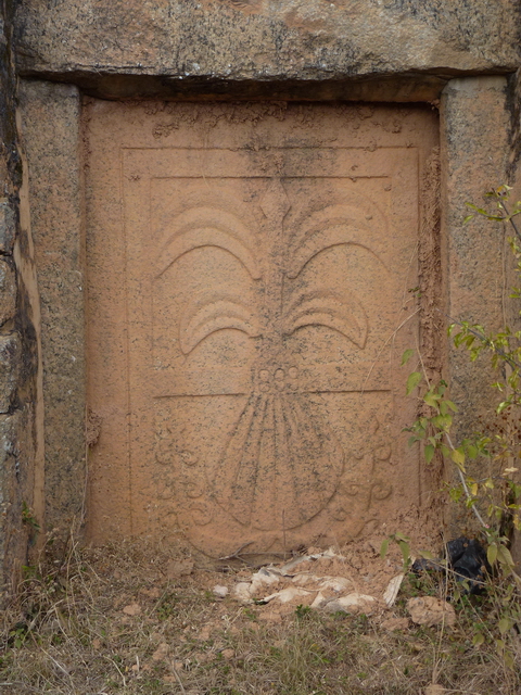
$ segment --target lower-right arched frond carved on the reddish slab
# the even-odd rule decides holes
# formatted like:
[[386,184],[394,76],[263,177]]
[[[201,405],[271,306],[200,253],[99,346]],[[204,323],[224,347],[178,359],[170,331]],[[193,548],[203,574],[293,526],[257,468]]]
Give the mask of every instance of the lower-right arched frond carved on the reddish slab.
[[[338,306],[331,304],[335,301]],[[348,302],[335,292],[317,291],[301,295],[287,313],[284,333],[295,332],[304,326],[332,328],[364,350],[369,330],[368,319],[360,302],[350,296]]]

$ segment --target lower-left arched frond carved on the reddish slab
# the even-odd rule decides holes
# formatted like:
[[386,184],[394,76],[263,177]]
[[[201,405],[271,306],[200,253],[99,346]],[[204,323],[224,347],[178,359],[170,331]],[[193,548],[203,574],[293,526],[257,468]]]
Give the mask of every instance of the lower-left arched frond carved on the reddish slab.
[[[187,313],[188,314],[188,313]],[[212,333],[223,329],[239,330],[251,338],[260,336],[255,316],[240,302],[230,300],[212,301],[179,324],[179,343],[188,355],[199,343]]]

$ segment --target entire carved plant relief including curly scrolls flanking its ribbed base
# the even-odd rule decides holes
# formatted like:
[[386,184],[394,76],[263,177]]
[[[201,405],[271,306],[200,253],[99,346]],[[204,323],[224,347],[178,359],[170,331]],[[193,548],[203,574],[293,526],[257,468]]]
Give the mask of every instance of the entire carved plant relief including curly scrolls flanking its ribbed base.
[[196,249],[225,251],[247,273],[257,298],[245,301],[230,281],[195,294],[180,313],[178,341],[187,361],[204,341],[230,329],[254,341],[256,356],[245,405],[217,465],[208,468],[198,453],[185,448],[190,435],[168,424],[158,428],[160,496],[174,498],[180,516],[188,514],[187,529],[209,525],[218,507],[220,516],[271,540],[282,527],[298,528],[326,508],[341,522],[356,498],[361,530],[371,519],[371,505],[392,494],[378,470],[391,457],[384,427],[372,418],[367,451],[360,443],[350,452],[355,467],[364,459],[366,478],[350,478],[347,454],[314,402],[317,389],[302,378],[288,338],[304,327],[326,327],[365,349],[368,316],[356,292],[348,290],[348,278],[340,290],[325,288],[323,282],[314,288],[300,279],[309,264],[338,247],[355,244],[374,255],[368,247],[370,217],[361,205],[343,203],[323,206],[304,219],[294,215],[287,224],[292,203],[283,178],[270,180],[259,208],[262,235],[240,215],[214,204],[185,210],[171,219],[169,237],[157,254],[161,276]]

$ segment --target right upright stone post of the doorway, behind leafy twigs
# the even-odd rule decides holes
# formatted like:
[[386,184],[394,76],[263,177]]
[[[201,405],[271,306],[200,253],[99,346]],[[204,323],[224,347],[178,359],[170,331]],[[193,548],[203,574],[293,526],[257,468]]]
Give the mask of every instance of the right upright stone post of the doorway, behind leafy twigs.
[[[442,98],[441,116],[447,323],[468,320],[487,331],[498,330],[508,320],[505,267],[510,256],[505,230],[479,216],[469,225],[463,225],[463,218],[467,202],[484,204],[484,193],[507,180],[507,80],[452,80]],[[471,363],[466,350],[449,345],[448,375],[452,399],[459,407],[453,435],[459,441],[480,430],[480,418],[490,422],[500,394],[490,386],[497,375],[488,355]],[[480,477],[478,470],[472,472]]]

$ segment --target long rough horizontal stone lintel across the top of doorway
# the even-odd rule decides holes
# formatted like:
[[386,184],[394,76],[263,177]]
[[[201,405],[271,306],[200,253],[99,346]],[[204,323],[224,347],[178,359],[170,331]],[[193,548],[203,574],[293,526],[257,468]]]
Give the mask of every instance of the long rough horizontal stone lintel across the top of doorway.
[[293,80],[318,88],[312,98],[329,89],[348,99],[356,85],[339,92],[335,81],[427,73],[432,86],[432,75],[513,72],[518,14],[516,0],[27,0],[17,56],[24,75],[100,97],[216,94],[234,84],[262,93],[262,83]]

